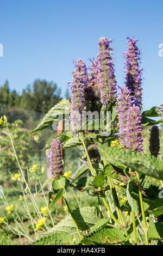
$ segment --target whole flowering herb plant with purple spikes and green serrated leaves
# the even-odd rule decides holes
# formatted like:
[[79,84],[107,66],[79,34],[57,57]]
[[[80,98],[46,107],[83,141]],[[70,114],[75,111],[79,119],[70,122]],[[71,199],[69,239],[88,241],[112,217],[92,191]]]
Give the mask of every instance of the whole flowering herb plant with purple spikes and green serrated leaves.
[[[59,102],[32,131],[54,125],[58,122],[57,115],[67,121],[65,109],[70,110],[70,130],[55,136],[46,148],[51,148],[49,162],[53,176],[49,207],[62,198],[69,215],[48,230],[49,234],[34,242],[35,245],[58,241],[70,245],[74,241],[77,245],[162,243],[163,204],[160,186],[153,184],[153,179],[162,185],[163,163],[157,125],[163,120],[151,119],[161,117],[162,108],[142,111],[142,69],[137,40],[127,38],[126,81],[122,88],[116,82],[111,43],[111,39],[99,39],[99,53],[91,60],[90,71],[82,59],[75,62],[73,81],[69,83],[71,102]],[[82,119],[89,111],[103,112],[103,122],[93,114],[91,118],[86,114]],[[143,151],[142,130],[146,126],[152,127],[149,150]],[[104,129],[108,134],[103,134]],[[72,147],[83,152],[83,167],[73,177],[64,174],[66,166],[62,156],[63,150]],[[90,200],[96,197],[98,207],[82,207],[79,203],[79,208],[72,210],[66,197],[69,189],[81,194],[86,191]]]

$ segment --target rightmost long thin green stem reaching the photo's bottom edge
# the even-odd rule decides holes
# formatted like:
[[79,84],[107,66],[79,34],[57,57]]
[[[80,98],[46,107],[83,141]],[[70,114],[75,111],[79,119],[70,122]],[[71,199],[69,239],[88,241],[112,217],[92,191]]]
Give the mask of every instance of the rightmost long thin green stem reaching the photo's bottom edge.
[[139,174],[138,173],[136,173],[136,178],[137,178],[141,213],[142,213],[142,219],[143,219],[143,230],[144,230],[144,233],[145,233],[146,245],[148,245],[148,231],[147,231],[146,217],[145,217],[145,211],[144,211],[144,207],[143,207],[143,200],[142,200],[142,194],[141,194],[141,185],[140,185],[140,179],[139,179]]

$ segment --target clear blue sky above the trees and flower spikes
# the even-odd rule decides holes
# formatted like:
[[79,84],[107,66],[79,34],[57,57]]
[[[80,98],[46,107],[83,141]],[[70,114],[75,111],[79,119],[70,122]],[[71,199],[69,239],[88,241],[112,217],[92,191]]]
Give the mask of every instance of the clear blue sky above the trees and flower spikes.
[[142,50],[144,109],[163,103],[162,0],[0,1],[0,85],[22,92],[36,78],[54,81],[64,96],[73,59],[96,57],[98,39],[114,38],[116,78],[123,83],[126,36]]

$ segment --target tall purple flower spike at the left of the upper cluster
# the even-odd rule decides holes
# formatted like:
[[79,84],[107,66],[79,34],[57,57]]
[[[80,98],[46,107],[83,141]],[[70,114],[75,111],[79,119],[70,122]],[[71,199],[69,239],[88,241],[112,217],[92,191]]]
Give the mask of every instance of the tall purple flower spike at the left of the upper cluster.
[[72,105],[71,105],[71,124],[73,131],[76,131],[75,123],[78,122],[76,118],[76,112],[79,115],[86,109],[85,105],[85,90],[88,83],[86,65],[82,59],[78,59],[76,62],[76,69],[72,72],[73,82],[71,85],[72,93]]

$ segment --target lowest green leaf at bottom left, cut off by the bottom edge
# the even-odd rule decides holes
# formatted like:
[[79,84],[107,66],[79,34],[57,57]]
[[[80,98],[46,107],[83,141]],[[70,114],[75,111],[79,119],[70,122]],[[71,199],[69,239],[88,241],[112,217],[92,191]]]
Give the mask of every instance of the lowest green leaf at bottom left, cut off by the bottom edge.
[[73,245],[73,243],[73,236],[57,231],[49,236],[42,237],[30,245]]

